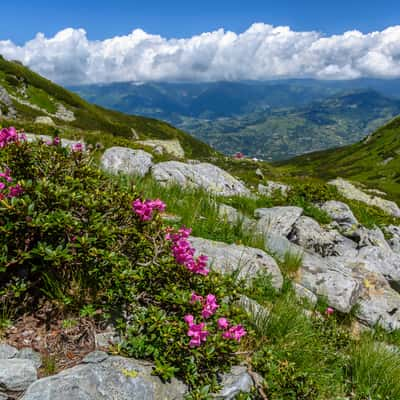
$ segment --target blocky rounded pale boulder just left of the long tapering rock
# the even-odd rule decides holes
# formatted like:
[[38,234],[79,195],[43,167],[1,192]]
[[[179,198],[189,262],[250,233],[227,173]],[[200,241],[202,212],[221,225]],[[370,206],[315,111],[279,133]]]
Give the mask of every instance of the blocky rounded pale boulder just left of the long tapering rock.
[[144,176],[153,165],[152,155],[143,150],[111,147],[101,157],[101,167],[112,174]]

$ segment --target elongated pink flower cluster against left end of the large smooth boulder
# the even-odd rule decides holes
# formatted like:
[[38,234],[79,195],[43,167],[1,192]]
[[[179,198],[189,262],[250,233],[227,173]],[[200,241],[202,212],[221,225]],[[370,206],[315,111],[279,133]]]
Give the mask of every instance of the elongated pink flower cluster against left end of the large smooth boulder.
[[184,265],[194,274],[207,275],[209,272],[206,268],[208,257],[201,255],[197,259],[194,258],[195,249],[188,240],[191,233],[191,229],[184,227],[176,233],[168,230],[166,239],[172,241],[172,254],[178,264]]

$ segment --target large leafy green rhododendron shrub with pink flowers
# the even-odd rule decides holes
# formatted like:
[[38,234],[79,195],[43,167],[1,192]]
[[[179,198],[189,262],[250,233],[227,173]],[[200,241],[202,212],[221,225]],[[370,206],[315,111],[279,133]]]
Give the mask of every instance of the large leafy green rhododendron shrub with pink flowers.
[[235,297],[233,278],[194,257],[187,228],[163,225],[161,199],[110,179],[89,151],[13,129],[1,137],[0,302],[16,315],[90,305],[118,322],[124,354],[153,361],[164,379],[215,388],[240,345],[229,329],[242,315],[222,301]]

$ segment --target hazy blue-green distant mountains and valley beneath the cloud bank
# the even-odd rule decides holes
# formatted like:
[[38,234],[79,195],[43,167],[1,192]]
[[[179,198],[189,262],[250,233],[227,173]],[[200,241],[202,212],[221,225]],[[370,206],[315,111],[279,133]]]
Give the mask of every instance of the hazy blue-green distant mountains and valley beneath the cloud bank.
[[400,113],[400,80],[113,83],[87,100],[164,119],[219,151],[266,160],[360,140]]

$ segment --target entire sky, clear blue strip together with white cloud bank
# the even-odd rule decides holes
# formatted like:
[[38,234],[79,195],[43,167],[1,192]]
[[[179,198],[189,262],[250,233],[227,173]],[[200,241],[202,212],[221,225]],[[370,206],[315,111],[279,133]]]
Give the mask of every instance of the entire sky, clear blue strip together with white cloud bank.
[[0,54],[61,84],[400,78],[400,0],[2,3]]

